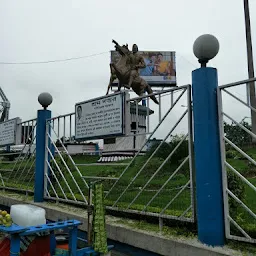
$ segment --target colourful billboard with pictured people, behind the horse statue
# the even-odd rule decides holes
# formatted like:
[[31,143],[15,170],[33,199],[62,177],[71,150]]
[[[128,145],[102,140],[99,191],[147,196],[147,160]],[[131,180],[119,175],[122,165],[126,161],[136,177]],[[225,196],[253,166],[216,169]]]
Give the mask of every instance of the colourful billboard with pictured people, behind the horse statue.
[[[157,52],[140,51],[143,56],[146,67],[140,69],[140,76],[144,78],[149,85],[170,86],[176,85],[176,58],[175,52]],[[111,51],[111,62],[117,63],[120,54],[117,51]],[[118,80],[113,82],[117,85]]]

